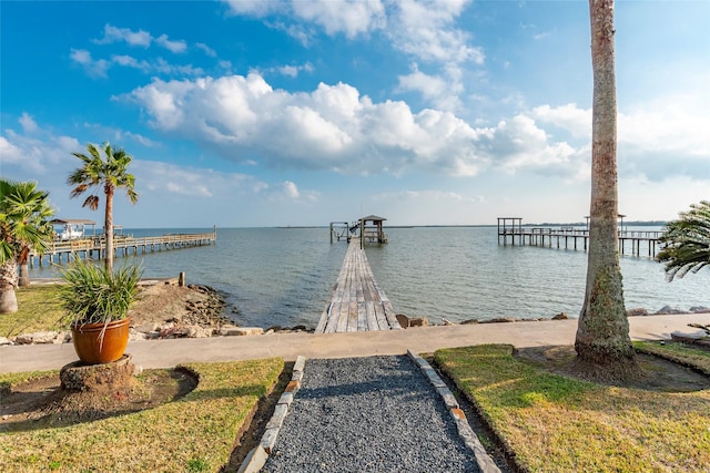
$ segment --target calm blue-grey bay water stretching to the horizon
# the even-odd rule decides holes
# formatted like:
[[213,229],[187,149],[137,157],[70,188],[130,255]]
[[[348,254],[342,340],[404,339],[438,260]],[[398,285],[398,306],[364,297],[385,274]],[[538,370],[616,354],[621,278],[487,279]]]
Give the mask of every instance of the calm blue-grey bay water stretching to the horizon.
[[[199,232],[211,229],[125,230],[135,237]],[[385,232],[389,244],[368,245],[366,254],[397,312],[424,316],[434,323],[443,318],[579,313],[587,269],[584,251],[499,246],[495,227]],[[327,228],[225,228],[217,229],[216,245],[135,259],[142,261],[146,278],[185,271],[187,282],[224,291],[239,309],[232,317],[240,325],[315,327],[346,249],[343,241],[329,244]],[[708,270],[667,282],[660,264],[630,256],[621,257],[621,270],[627,308],[710,307]],[[49,268],[32,270],[32,277],[51,276]]]

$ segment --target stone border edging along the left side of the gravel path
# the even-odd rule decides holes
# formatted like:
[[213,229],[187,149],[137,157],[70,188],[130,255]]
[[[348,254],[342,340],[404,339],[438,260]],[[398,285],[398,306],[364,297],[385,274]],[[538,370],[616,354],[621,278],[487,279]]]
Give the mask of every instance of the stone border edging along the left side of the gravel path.
[[274,408],[274,413],[266,424],[260,444],[248,452],[242,462],[242,465],[237,470],[237,473],[257,473],[264,464],[266,464],[266,460],[268,459],[268,455],[271,455],[271,451],[276,443],[281,425],[284,423],[284,418],[288,413],[288,408],[293,402],[293,398],[298,389],[301,389],[301,380],[303,379],[305,364],[306,358],[300,354],[293,366],[291,381],[288,381],[286,389],[281,394],[281,398],[278,398],[278,402]]

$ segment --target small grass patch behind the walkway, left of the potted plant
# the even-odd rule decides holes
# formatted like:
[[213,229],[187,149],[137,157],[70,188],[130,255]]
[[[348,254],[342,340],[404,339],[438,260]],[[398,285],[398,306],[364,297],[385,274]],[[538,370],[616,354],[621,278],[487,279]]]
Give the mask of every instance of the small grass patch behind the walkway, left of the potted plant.
[[59,306],[55,285],[29,286],[16,290],[18,311],[0,316],[0,337],[14,337],[34,331],[60,330],[64,315]]

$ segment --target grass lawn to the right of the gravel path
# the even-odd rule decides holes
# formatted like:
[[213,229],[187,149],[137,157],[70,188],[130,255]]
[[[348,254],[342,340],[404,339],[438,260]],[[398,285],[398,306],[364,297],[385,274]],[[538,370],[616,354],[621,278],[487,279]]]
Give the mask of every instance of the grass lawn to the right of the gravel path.
[[[697,349],[652,348],[710,364],[710,353]],[[528,471],[710,469],[710,390],[669,393],[580,381],[514,358],[507,345],[439,350],[435,359]]]

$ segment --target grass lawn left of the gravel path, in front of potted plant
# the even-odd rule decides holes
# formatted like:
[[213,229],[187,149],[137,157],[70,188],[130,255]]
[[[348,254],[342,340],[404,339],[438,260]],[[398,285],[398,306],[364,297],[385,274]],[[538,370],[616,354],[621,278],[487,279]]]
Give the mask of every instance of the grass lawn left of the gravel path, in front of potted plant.
[[[71,426],[0,432],[2,472],[199,472],[226,464],[251,409],[276,383],[281,359],[191,363],[199,385],[155,409]],[[0,374],[0,385],[42,373]]]

